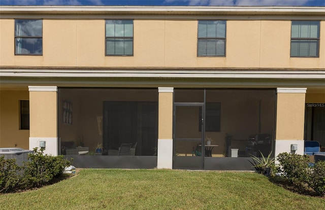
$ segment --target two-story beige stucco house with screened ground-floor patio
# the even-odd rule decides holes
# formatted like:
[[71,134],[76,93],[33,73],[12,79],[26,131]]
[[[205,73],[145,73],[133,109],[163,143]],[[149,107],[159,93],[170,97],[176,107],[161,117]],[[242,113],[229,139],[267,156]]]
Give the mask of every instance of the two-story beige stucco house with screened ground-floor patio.
[[0,147],[77,167],[303,154],[325,145],[324,28],[323,7],[1,6]]

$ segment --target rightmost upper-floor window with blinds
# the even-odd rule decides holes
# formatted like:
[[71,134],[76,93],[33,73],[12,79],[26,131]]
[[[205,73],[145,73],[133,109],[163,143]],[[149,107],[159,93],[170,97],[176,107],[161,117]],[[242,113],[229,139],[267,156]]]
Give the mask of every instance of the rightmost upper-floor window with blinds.
[[319,21],[291,22],[291,57],[318,57]]

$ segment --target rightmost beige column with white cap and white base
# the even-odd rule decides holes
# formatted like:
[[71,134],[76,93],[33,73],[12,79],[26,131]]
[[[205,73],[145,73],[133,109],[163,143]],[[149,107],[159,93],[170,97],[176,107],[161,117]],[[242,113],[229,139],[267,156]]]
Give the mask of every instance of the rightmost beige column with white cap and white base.
[[[307,88],[277,88],[275,156],[304,154],[305,95]],[[297,145],[297,151],[291,151]]]

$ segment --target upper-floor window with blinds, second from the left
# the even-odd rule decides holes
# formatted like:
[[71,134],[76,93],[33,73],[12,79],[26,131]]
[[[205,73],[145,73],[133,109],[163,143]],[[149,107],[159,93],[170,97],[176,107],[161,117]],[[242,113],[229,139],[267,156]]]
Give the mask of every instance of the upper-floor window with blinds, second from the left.
[[133,20],[106,20],[106,55],[133,55]]

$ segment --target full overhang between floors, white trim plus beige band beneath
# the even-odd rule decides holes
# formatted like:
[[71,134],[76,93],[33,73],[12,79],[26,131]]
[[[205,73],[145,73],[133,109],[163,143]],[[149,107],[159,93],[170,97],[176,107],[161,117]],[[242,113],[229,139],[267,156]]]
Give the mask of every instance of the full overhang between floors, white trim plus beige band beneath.
[[325,90],[325,69],[13,68],[1,67],[0,90],[58,87],[276,88]]

